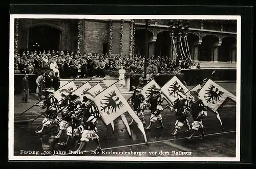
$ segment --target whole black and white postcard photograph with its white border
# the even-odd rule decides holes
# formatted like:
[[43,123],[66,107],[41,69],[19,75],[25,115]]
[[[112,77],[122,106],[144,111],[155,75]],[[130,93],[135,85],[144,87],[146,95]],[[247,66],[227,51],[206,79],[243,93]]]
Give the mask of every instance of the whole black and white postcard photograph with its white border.
[[240,16],[11,15],[9,160],[239,161],[240,41]]

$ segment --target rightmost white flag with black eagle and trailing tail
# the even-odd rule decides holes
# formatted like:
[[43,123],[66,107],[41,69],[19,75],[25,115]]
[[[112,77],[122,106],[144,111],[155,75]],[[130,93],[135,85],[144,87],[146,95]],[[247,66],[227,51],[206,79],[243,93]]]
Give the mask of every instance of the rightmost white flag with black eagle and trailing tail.
[[199,96],[204,100],[204,104],[214,112],[218,110],[227,98],[230,98],[234,102],[237,100],[236,96],[210,79],[199,91]]

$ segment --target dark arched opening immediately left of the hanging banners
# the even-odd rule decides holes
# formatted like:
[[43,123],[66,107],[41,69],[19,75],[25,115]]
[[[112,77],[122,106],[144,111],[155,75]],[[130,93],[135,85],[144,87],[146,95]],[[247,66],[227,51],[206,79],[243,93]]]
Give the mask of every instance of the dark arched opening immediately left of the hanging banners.
[[157,34],[157,40],[155,45],[155,56],[167,56],[170,57],[170,35],[169,32],[164,31]]

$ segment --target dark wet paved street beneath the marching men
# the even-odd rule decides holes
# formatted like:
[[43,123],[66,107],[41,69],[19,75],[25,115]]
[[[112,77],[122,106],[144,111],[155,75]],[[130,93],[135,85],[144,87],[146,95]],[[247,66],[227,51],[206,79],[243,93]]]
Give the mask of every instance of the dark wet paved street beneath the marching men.
[[[224,86],[223,86],[224,87]],[[226,89],[231,89],[228,87]],[[230,90],[229,90],[230,91]],[[231,91],[230,91],[231,92]],[[234,93],[235,94],[235,93]],[[126,99],[130,95],[124,95]],[[15,107],[14,115],[15,120],[22,120],[24,118],[33,119],[42,112],[39,108],[33,107],[31,110],[26,112],[24,115],[19,116],[18,114],[28,109],[34,103],[36,103],[35,95],[30,95],[30,103],[21,103],[21,96],[15,95]],[[106,128],[101,122],[98,124],[98,131],[100,135],[100,143],[103,150],[101,156],[120,156],[115,155],[113,152],[146,152],[145,154],[138,154],[133,156],[170,156],[170,157],[183,157],[186,155],[177,155],[176,153],[191,152],[189,157],[235,157],[236,156],[236,107],[227,106],[222,108],[220,111],[220,116],[225,128],[225,132],[222,133],[219,122],[214,113],[209,112],[208,117],[204,120],[205,134],[206,138],[203,140],[195,137],[194,140],[189,141],[185,137],[189,136],[190,133],[185,133],[186,128],[182,129],[178,136],[170,135],[170,132],[174,128],[175,115],[169,111],[163,111],[163,123],[164,129],[156,129],[159,124],[154,124],[150,131],[146,131],[146,136],[149,146],[145,146],[143,135],[138,130],[136,124],[131,126],[131,132],[133,138],[131,139],[127,134],[125,126],[123,125],[121,119],[117,118],[115,123],[115,132],[110,131],[111,127]],[[129,115],[125,114],[127,120],[130,122],[131,118]],[[144,113],[146,123],[149,123],[150,112],[148,110]],[[191,117],[188,117],[189,122],[192,123]],[[54,134],[53,132],[57,128],[53,128],[49,133],[44,136],[39,137],[34,133],[36,128],[41,124],[41,118],[35,120],[32,124],[19,124],[15,123],[14,127],[14,155],[24,155],[20,151],[40,151],[43,152],[46,149],[42,147],[49,147],[49,150],[61,150],[73,151],[77,148],[74,144],[74,140],[70,140],[69,146],[60,147],[55,144],[49,136]],[[198,136],[199,133],[196,134]],[[65,140],[65,135],[63,135],[59,141]],[[96,148],[93,141],[89,142],[86,151],[81,154],[82,156],[95,156],[91,153],[91,150]],[[156,152],[156,154],[150,154],[150,152]],[[108,153],[112,153],[108,155]],[[51,151],[51,155],[54,151]],[[50,154],[45,154],[50,155]],[[73,155],[74,156],[74,155]],[[125,155],[122,156],[131,156]]]

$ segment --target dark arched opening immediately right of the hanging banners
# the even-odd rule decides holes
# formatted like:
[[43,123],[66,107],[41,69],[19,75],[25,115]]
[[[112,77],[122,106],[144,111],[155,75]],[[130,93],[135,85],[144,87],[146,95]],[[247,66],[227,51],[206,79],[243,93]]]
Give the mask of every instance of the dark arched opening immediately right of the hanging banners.
[[187,34],[188,48],[192,60],[198,60],[198,41],[199,37],[197,35],[193,33]]

